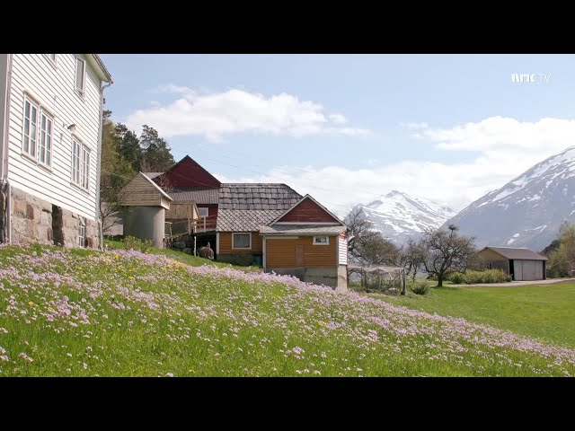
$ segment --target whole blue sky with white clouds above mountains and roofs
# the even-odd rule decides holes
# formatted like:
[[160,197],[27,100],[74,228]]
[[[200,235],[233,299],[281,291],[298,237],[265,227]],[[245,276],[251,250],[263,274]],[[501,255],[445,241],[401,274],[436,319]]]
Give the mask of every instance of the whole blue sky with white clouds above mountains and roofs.
[[286,182],[339,215],[391,189],[459,210],[575,145],[572,55],[102,60],[114,120],[220,180]]

